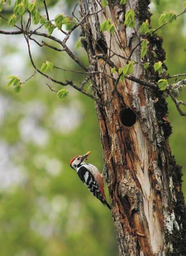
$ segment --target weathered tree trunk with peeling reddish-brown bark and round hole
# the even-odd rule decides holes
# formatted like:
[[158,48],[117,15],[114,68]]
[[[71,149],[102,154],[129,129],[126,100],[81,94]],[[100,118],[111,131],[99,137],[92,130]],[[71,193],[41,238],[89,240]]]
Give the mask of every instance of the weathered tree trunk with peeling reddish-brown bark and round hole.
[[[95,105],[119,253],[186,255],[182,174],[171,156],[171,126],[163,93],[126,79],[114,84],[111,78],[117,78],[117,73],[111,74],[111,62],[118,69],[124,67],[131,53],[133,60],[141,61],[140,45],[136,46],[141,40],[140,24],[150,19],[149,1],[128,0],[119,5],[119,0],[110,0],[104,11],[99,11],[99,2],[81,0],[82,17],[88,11],[97,13],[87,17],[82,32],[89,63],[99,71],[92,77],[92,89],[100,99]],[[127,9],[136,14],[135,29],[124,26]],[[106,19],[116,27],[112,36],[100,33]],[[159,77],[152,66],[163,62],[165,53],[159,36],[149,35],[148,40],[150,68],[144,72],[142,64],[136,64],[133,76],[156,82]]]

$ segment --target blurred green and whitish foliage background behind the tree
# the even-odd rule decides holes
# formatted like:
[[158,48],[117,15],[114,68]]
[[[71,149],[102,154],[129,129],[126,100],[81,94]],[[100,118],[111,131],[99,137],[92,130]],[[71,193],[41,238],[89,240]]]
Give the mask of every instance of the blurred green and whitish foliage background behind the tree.
[[[75,2],[48,1],[50,17],[61,11],[70,14]],[[181,0],[176,4],[175,0],[160,2],[158,6],[151,4],[153,27],[158,26],[158,15],[163,10],[183,10]],[[5,11],[4,15],[10,14]],[[2,22],[0,29],[11,28]],[[87,63],[85,51],[76,47],[79,34],[73,34],[68,46]],[[185,72],[184,17],[165,26],[159,34],[164,36],[170,75]],[[54,35],[61,36],[55,31]],[[63,52],[35,44],[31,44],[31,51],[38,66],[49,60],[56,66],[78,69]],[[72,157],[90,150],[89,162],[102,170],[94,102],[72,88],[61,102],[40,75],[25,83],[20,94],[6,90],[8,76],[20,76],[24,81],[34,73],[21,35],[0,35],[0,57],[0,255],[118,255],[110,212],[87,192],[69,167]],[[78,83],[83,78],[61,70],[54,72],[59,80],[70,78]],[[183,92],[181,99],[185,95]],[[179,116],[168,102],[173,127],[170,144],[177,164],[183,166],[186,194],[185,117]]]

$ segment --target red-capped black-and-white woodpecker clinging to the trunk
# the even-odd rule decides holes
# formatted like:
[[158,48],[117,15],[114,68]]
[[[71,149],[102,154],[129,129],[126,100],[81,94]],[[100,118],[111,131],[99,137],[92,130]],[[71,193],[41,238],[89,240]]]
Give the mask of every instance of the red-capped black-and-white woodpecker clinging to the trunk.
[[94,197],[98,198],[102,204],[111,210],[110,204],[106,201],[103,176],[93,164],[84,162],[89,154],[91,154],[91,151],[88,151],[83,156],[75,156],[70,160],[70,167],[76,170],[80,180],[87,186]]

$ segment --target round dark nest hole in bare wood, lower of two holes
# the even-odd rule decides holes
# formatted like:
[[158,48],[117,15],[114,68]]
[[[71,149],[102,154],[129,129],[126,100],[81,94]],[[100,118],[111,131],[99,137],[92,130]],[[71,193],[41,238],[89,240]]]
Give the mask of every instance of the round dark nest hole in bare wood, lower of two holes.
[[136,123],[136,114],[131,108],[125,108],[120,112],[121,123],[127,127],[131,127]]

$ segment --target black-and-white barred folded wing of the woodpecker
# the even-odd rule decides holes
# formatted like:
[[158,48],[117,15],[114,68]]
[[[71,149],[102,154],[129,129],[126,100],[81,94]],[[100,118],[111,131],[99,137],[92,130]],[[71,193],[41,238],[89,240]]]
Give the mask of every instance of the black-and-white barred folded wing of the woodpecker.
[[105,204],[109,209],[111,209],[111,206],[106,202],[104,197],[102,197],[100,188],[97,182],[95,181],[94,176],[91,172],[89,172],[89,170],[86,167],[81,166],[78,169],[78,176],[81,179],[81,181],[84,182],[84,184],[87,186],[88,190],[92,192],[94,197],[98,198],[102,204]]

